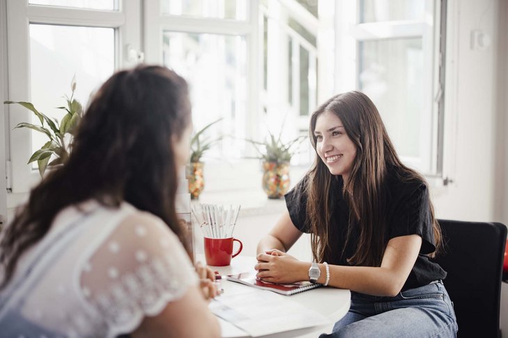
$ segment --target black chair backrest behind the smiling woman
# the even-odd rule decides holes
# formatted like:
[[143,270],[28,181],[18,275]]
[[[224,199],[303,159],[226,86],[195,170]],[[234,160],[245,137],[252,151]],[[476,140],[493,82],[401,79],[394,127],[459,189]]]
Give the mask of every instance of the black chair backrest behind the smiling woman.
[[500,335],[502,262],[507,228],[501,223],[438,220],[445,251],[434,259],[454,303],[457,337]]

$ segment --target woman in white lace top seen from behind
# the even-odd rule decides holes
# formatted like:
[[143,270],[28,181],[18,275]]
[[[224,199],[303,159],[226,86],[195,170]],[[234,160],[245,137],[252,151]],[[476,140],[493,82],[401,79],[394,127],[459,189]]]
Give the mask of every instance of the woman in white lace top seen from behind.
[[173,71],[102,85],[67,164],[1,234],[0,337],[219,337],[175,215],[190,133]]

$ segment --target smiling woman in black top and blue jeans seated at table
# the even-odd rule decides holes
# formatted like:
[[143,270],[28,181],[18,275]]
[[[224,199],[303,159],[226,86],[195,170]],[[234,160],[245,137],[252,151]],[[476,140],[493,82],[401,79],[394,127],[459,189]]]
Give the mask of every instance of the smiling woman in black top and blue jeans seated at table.
[[[322,337],[455,337],[457,321],[429,260],[441,246],[424,178],[399,160],[374,103],[338,94],[310,118],[315,163],[257,247],[257,277],[351,290],[351,307]],[[286,253],[311,234],[314,261]]]

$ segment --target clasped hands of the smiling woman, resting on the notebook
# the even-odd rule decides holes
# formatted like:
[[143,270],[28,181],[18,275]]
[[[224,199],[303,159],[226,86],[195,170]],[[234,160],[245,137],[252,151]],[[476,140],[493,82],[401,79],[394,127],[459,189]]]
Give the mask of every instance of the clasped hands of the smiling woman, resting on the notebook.
[[271,249],[257,255],[254,269],[257,278],[266,282],[292,283],[308,280],[309,263],[301,262],[283,251]]

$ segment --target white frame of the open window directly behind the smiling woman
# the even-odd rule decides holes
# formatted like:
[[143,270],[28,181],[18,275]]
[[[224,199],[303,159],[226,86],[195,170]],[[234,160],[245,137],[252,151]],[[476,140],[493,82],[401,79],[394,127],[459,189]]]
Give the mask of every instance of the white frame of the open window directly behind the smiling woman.
[[[426,0],[426,20],[406,20],[390,22],[368,22],[358,24],[357,13],[358,1],[338,0],[335,8],[335,88],[336,92],[346,92],[358,87],[358,48],[357,43],[368,40],[384,40],[388,38],[421,37],[422,48],[432,50],[432,54],[424,56],[424,69],[432,69],[424,72],[422,81],[426,83],[424,96],[423,114],[420,117],[420,157],[401,159],[408,165],[423,168],[426,176],[435,177],[442,174],[442,140],[443,119],[440,119],[443,108],[440,101],[443,99],[440,85],[440,67],[444,67],[440,61],[440,0]],[[439,134],[440,133],[440,134]],[[422,160],[423,159],[423,160]]]

